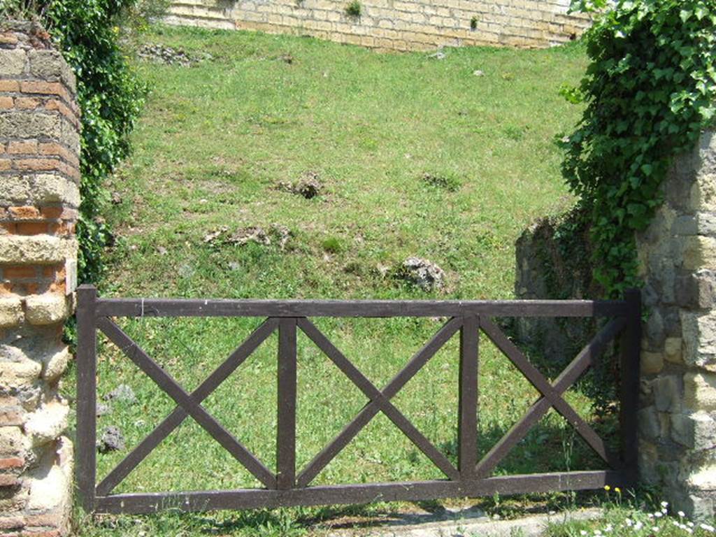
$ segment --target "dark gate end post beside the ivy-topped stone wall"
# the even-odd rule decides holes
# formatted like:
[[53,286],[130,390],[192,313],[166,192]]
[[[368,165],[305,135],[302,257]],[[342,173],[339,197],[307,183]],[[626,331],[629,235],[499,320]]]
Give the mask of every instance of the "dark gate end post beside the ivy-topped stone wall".
[[639,355],[642,346],[642,294],[638,289],[629,289],[624,294],[627,301],[627,326],[621,337],[619,372],[621,377],[621,405],[619,423],[621,427],[621,454],[624,463],[625,486],[637,484],[638,475],[638,430],[639,410]]

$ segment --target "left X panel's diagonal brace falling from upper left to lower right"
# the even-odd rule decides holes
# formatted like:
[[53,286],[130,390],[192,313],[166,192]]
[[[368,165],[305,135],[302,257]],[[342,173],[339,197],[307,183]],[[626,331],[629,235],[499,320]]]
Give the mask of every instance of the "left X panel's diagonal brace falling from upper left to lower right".
[[241,445],[230,432],[219,424],[206,410],[201,407],[198,400],[189,395],[167,372],[165,372],[139,345],[120,329],[117,324],[104,317],[97,321],[97,326],[108,338],[127,354],[132,362],[150,377],[174,402],[193,417],[214,440],[233,455],[254,477],[267,488],[276,488],[276,477],[269,468]]

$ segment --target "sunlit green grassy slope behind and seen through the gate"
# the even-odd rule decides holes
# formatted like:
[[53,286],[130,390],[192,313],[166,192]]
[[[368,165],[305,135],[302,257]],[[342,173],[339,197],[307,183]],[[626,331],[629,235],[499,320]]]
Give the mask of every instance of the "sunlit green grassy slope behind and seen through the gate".
[[[584,71],[578,44],[446,49],[441,59],[243,32],[158,27],[142,40],[212,59],[193,67],[137,64],[152,92],[135,153],[111,185],[107,219],[117,244],[108,254],[104,296],[509,299],[516,238],[534,218],[572,203],[554,140],[579,117],[579,107],[558,95],[561,84],[576,83]],[[286,188],[306,177],[321,184],[316,197]],[[271,236],[271,226],[289,231],[285,243]],[[256,227],[270,244],[237,243]],[[397,278],[408,256],[440,265],[446,288],[424,291]],[[191,390],[259,321],[120,324]],[[444,319],[314,321],[380,387]],[[537,393],[485,338],[480,345],[480,453],[486,453]],[[102,342],[101,349],[100,397],[128,384],[138,402],[112,402],[99,418],[100,432],[114,425],[127,440],[125,450],[99,455],[100,477],[173,409],[115,347]],[[394,400],[453,461],[457,357],[454,337]],[[298,397],[303,467],[366,400],[302,336]],[[579,390],[567,399],[589,415]],[[276,336],[204,407],[274,468]],[[496,473],[586,467],[599,465],[550,413]],[[378,415],[314,483],[441,476]],[[255,485],[188,420],[117,491]],[[82,533],[318,534],[325,518],[377,509],[103,518]]]

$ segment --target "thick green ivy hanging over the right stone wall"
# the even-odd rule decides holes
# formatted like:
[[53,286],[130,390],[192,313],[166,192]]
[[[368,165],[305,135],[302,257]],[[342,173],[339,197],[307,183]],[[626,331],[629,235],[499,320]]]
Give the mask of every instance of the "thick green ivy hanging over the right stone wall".
[[591,224],[594,278],[610,297],[639,286],[635,232],[662,203],[675,156],[716,113],[716,0],[572,0],[590,11],[585,102],[563,175]]

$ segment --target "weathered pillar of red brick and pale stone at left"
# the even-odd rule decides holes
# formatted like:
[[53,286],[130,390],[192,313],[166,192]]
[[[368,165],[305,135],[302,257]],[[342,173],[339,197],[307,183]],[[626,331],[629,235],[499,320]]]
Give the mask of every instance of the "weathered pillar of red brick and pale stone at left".
[[0,535],[67,532],[72,444],[58,382],[76,279],[75,91],[39,26],[0,26]]

